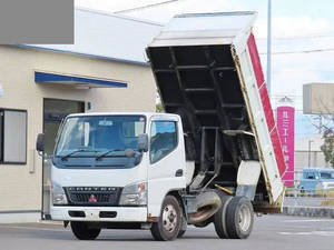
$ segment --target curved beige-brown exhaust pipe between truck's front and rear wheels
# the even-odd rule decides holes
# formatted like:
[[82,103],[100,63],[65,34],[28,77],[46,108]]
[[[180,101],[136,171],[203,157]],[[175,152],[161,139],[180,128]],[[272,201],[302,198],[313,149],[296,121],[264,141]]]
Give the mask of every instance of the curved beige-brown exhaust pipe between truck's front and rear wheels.
[[219,210],[220,206],[222,200],[215,191],[198,194],[196,197],[197,211],[188,214],[188,222],[195,224],[209,219]]

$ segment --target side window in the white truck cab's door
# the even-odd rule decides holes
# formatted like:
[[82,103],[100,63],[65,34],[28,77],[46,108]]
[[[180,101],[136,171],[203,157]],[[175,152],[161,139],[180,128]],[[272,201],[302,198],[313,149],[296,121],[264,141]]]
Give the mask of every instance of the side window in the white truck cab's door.
[[154,121],[150,127],[150,162],[155,163],[177,147],[177,129],[174,121]]

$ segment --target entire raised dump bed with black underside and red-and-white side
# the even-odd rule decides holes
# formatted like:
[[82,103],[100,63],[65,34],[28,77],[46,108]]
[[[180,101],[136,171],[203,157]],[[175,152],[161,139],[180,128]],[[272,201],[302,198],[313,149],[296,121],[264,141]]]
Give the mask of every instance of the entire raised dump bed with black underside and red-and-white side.
[[183,119],[200,183],[236,188],[242,162],[259,161],[254,206],[269,212],[282,204],[285,163],[252,33],[255,16],[177,16],[147,53],[165,111]]

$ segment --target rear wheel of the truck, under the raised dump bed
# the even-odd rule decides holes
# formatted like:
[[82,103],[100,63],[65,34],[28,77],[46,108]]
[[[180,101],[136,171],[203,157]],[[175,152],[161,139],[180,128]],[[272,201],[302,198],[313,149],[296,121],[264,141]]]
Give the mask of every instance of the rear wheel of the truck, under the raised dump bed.
[[226,229],[232,239],[249,237],[254,223],[253,204],[246,197],[234,197],[226,209]]

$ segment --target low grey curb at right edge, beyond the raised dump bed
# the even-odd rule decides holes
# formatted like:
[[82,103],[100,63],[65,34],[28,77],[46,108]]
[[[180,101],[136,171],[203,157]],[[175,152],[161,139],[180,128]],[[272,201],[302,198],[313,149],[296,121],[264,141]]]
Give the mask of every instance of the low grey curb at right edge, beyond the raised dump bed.
[[320,207],[283,207],[283,214],[298,216],[298,217],[322,217],[334,219],[334,208],[320,208]]

